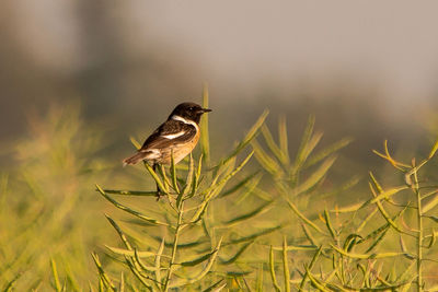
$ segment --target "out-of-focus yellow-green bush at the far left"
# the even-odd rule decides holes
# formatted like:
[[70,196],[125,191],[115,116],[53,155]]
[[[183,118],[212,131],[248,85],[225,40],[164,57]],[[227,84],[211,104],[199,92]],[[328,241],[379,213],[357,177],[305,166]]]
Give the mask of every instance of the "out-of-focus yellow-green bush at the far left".
[[96,133],[73,105],[31,119],[28,135],[13,151],[16,165],[1,175],[1,289],[14,282],[15,291],[49,290],[50,259],[71,289],[91,279],[90,248],[113,237],[95,220],[103,212],[92,196],[103,167],[95,157]]

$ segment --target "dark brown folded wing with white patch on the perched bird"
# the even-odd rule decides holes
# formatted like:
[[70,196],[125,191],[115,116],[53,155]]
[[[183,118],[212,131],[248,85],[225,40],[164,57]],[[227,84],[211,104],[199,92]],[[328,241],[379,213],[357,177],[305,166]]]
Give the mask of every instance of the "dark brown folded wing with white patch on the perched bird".
[[140,151],[150,149],[163,149],[173,144],[184,143],[196,136],[197,129],[193,125],[180,120],[170,119],[162,124],[157,130],[146,139]]

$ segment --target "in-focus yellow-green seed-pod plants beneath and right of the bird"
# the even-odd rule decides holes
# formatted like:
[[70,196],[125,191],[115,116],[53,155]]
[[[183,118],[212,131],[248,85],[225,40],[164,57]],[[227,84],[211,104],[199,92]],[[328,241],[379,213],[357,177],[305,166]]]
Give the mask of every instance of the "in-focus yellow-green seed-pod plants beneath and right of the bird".
[[[318,203],[319,195],[336,161],[335,153],[350,139],[315,152],[322,135],[314,133],[311,117],[291,160],[286,120],[279,121],[277,143],[263,124],[265,116],[231,155],[216,166],[205,170],[200,167],[201,156],[197,163],[191,157],[187,166],[182,167],[182,175],[171,166],[169,175],[162,170],[160,176],[145,164],[147,173],[166,195],[154,205],[150,202],[160,208],[153,217],[148,215],[151,210],[140,212],[120,206],[110,195],[129,191],[97,186],[113,205],[143,221],[142,227],[126,224],[124,229],[129,234],[126,236],[108,218],[125,245],[108,249],[123,256],[118,259],[138,279],[132,278],[130,283],[150,291],[430,289],[434,281],[426,284],[425,279],[430,278],[437,264],[434,231],[437,218],[427,211],[438,205],[438,199],[433,184],[420,185],[425,179],[418,178],[418,171],[434,157],[437,144],[427,159],[418,165],[413,160],[410,165],[392,159],[385,143],[384,154],[377,154],[404,174],[401,185],[383,188],[370,174],[369,200],[330,208]],[[265,147],[255,139],[258,132]],[[235,156],[249,144],[263,171],[250,172],[239,176],[240,179],[234,177],[234,185],[224,189],[224,183],[241,172],[251,157],[250,154],[234,166]],[[263,174],[267,177],[262,182]],[[348,190],[356,183],[354,178],[341,189]],[[429,188],[431,191],[423,191]],[[395,199],[407,190],[412,198]],[[187,240],[183,241],[184,237]],[[102,270],[102,289],[116,291],[117,280],[108,279]]]

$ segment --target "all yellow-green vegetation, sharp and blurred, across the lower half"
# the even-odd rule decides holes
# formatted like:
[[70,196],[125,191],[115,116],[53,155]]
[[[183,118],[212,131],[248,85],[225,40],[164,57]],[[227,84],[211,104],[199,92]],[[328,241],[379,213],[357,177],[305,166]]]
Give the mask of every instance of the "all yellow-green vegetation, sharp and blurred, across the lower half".
[[365,189],[331,178],[351,139],[321,148],[314,117],[296,153],[286,118],[274,133],[265,112],[212,161],[206,116],[193,155],[120,176],[78,112],[49,113],[0,179],[2,291],[438,291],[438,142],[408,161],[384,142],[393,171]]

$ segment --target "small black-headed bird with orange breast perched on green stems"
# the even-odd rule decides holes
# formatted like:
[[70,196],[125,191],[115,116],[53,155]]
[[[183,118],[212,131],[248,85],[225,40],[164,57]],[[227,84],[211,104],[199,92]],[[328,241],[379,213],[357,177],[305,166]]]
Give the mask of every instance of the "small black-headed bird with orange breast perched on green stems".
[[124,165],[147,161],[155,170],[157,164],[171,164],[172,152],[175,164],[178,163],[196,147],[200,135],[200,116],[207,112],[211,109],[195,103],[177,105],[168,120],[146,139],[138,152],[123,161]]

